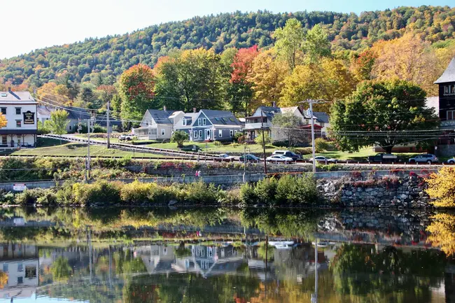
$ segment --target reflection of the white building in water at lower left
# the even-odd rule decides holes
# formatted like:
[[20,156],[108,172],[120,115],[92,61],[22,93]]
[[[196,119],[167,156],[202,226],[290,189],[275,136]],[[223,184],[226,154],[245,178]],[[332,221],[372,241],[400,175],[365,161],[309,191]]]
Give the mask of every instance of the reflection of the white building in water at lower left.
[[30,297],[38,286],[38,251],[36,246],[0,244],[1,271],[8,274],[8,282],[0,297]]

